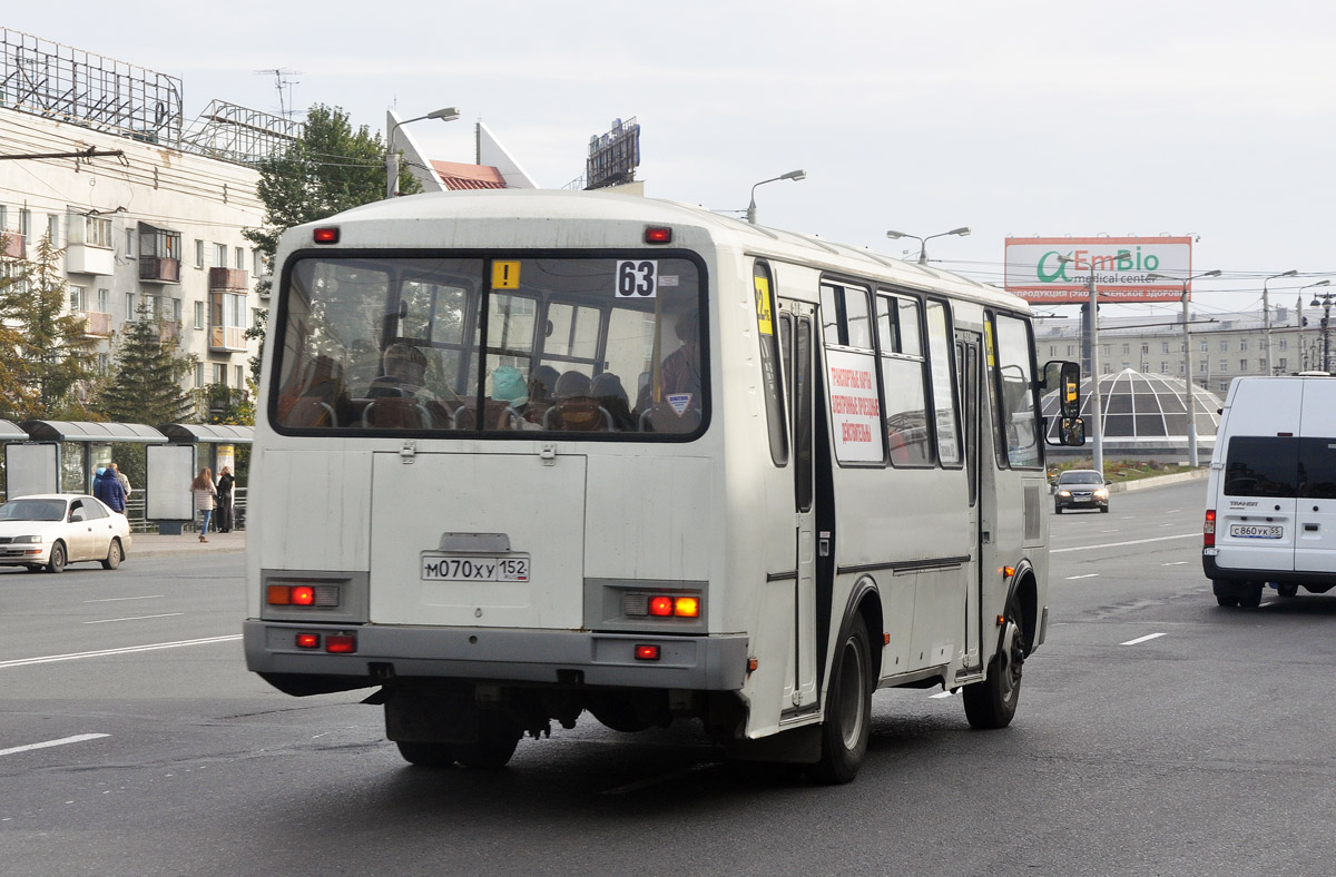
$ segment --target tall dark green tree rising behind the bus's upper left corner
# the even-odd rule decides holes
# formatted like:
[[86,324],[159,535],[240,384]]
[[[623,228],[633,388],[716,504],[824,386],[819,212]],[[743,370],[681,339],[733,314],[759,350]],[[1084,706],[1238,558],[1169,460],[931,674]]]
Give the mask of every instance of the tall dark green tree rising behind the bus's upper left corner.
[[[422,186],[407,167],[399,168],[399,192],[413,195]],[[282,154],[262,162],[257,192],[265,202],[265,226],[242,232],[273,264],[279,236],[293,226],[370,204],[385,198],[385,141],[367,125],[357,131],[339,107],[314,104],[306,111],[299,140]],[[269,278],[255,284],[262,295]],[[262,311],[246,336],[263,346],[267,311]],[[250,360],[251,378],[259,383],[259,356]]]

